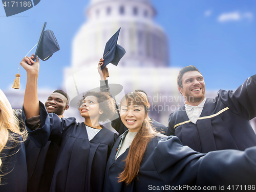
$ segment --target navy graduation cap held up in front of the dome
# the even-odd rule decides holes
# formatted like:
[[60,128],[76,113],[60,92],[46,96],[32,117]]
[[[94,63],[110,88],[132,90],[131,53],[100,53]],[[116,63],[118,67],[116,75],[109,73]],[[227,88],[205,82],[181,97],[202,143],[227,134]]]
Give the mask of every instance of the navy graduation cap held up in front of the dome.
[[119,28],[119,30],[109,39],[109,41],[106,42],[103,53],[104,64],[101,66],[101,68],[105,67],[109,63],[117,66],[120,59],[126,53],[123,47],[117,44],[120,29],[121,28]]

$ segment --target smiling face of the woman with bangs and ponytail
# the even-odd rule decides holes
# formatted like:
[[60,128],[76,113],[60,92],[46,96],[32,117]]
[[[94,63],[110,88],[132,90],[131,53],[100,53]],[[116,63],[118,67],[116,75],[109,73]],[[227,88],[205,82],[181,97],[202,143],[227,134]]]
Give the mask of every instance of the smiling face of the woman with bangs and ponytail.
[[130,132],[138,132],[141,129],[142,123],[146,117],[145,108],[143,105],[130,104],[126,102],[121,105],[121,120],[125,127]]

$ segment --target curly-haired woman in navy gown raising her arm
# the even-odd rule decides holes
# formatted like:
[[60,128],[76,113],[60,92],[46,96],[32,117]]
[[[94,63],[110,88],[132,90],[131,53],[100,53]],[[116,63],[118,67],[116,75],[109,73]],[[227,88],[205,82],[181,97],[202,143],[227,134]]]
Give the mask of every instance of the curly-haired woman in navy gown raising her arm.
[[[114,100],[109,93],[87,92],[79,107],[84,122],[77,123],[74,117],[60,119],[38,101],[39,60],[32,59],[25,57],[20,63],[27,71],[23,118],[37,147],[48,140],[60,146],[50,191],[102,191],[106,161],[117,135],[99,122],[114,116]],[[31,118],[34,122],[28,123]]]

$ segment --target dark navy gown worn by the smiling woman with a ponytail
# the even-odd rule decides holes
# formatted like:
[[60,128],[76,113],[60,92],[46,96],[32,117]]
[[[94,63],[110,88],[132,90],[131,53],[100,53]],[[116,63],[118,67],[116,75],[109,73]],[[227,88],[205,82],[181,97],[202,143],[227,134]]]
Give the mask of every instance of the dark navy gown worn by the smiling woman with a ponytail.
[[256,147],[245,152],[223,150],[202,154],[183,146],[176,136],[167,138],[161,134],[148,142],[138,176],[128,185],[119,183],[117,176],[124,170],[123,160],[130,150],[115,160],[120,140],[119,137],[106,166],[104,192],[174,191],[172,187],[178,187],[178,191],[180,186],[184,191],[194,191],[188,186],[203,189],[219,184],[255,184]]

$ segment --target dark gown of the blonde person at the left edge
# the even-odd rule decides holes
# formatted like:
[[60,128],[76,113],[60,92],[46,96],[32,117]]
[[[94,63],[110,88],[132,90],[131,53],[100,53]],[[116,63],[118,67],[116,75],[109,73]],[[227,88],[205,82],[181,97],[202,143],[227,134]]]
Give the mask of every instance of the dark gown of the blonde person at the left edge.
[[28,175],[24,142],[22,136],[15,133],[14,135],[15,141],[9,139],[0,153],[2,160],[0,191],[26,192]]

